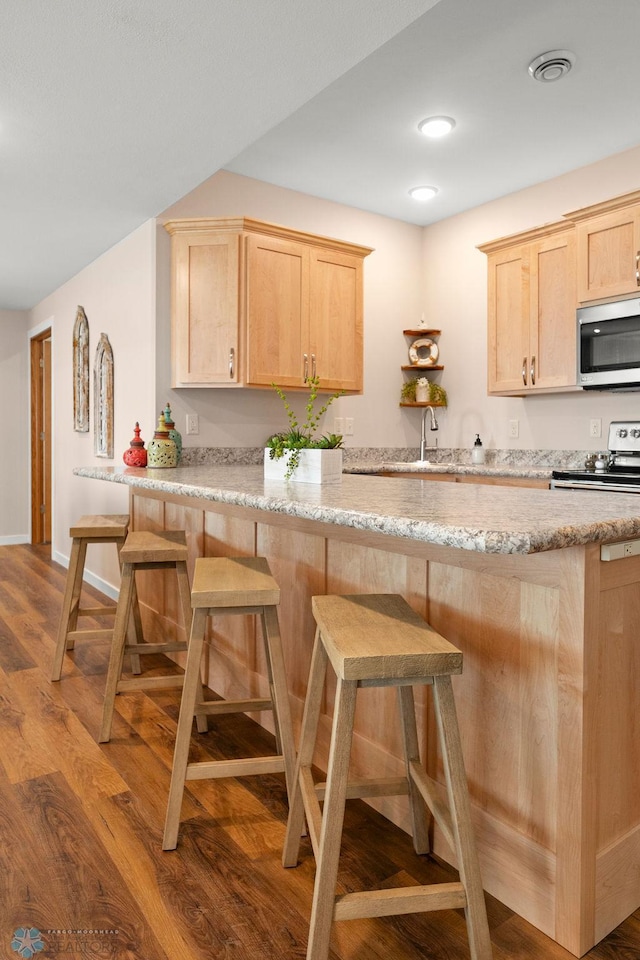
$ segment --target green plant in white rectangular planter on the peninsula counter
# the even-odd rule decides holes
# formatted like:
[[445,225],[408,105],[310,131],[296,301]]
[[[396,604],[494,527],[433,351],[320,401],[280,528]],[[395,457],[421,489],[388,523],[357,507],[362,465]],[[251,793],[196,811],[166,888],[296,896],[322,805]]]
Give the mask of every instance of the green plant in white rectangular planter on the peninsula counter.
[[315,436],[320,418],[343,390],[332,394],[315,409],[320,387],[319,377],[309,377],[309,398],[305,420],[300,424],[284,392],[275,383],[271,386],[284,404],[288,429],[274,433],[265,444],[264,475],[266,480],[299,480],[303,483],[335,483],[342,477],[342,436],[326,433]]

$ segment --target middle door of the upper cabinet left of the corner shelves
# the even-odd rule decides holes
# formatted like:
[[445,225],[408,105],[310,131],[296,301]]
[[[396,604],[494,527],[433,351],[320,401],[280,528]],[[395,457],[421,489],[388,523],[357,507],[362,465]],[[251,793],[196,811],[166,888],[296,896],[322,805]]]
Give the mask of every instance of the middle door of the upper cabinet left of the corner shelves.
[[301,387],[305,354],[310,364],[309,248],[256,235],[245,242],[246,383]]

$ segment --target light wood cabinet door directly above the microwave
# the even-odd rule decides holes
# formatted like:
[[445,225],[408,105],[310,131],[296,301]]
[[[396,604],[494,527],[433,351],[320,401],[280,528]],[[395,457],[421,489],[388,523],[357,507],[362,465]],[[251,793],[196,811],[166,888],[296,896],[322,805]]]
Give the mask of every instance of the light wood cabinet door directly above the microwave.
[[640,207],[615,210],[576,226],[578,300],[638,292]]

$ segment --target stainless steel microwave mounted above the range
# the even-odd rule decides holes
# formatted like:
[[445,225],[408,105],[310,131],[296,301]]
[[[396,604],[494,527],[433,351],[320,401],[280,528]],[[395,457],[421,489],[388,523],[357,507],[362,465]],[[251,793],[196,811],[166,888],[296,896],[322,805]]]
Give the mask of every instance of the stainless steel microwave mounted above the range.
[[578,309],[578,386],[640,390],[640,299]]

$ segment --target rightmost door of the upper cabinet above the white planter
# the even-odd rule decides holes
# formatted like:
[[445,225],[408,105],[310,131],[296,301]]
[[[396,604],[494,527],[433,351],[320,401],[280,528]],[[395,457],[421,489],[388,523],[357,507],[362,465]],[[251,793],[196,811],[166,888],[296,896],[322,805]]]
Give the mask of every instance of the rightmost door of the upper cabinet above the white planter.
[[310,251],[311,372],[321,388],[362,391],[362,257]]

